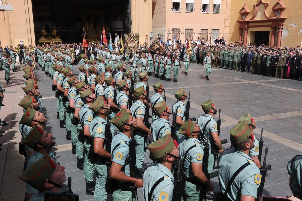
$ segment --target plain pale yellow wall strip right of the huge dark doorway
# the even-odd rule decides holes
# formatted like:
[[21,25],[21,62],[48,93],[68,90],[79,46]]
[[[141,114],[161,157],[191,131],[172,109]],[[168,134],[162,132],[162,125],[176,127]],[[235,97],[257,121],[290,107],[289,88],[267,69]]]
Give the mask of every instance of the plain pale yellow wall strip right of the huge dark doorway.
[[143,44],[146,33],[152,32],[152,0],[131,0],[130,3],[132,32],[140,34],[140,44]]

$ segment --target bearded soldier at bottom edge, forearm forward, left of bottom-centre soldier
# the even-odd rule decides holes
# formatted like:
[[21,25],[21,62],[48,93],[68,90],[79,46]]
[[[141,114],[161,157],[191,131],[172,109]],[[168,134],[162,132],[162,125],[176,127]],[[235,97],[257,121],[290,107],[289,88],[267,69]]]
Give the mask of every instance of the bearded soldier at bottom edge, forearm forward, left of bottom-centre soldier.
[[[112,198],[117,200],[135,200],[132,197],[129,185],[137,188],[143,186],[143,180],[130,177],[130,167],[127,159],[129,158],[129,141],[131,137],[131,124],[133,129],[137,129],[136,119],[122,109],[112,118],[111,123],[119,129],[119,133],[113,137],[111,143],[112,164],[110,168],[110,177],[114,179]],[[121,180],[121,178],[124,178]]]

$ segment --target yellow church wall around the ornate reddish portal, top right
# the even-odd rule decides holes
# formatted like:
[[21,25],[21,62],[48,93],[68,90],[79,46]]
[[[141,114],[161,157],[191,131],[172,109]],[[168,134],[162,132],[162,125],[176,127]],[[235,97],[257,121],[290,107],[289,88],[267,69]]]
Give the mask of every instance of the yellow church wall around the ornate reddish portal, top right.
[[[242,1],[242,0],[232,0],[231,1],[231,15],[230,15],[230,31],[229,31],[229,42],[235,42],[239,40],[239,23],[237,20],[240,20],[240,14],[238,13],[241,8],[243,7],[244,3],[246,3],[246,7],[249,9],[250,13],[247,19],[250,19],[255,12],[255,8],[253,5],[257,4],[260,0],[249,0],[249,1]],[[271,8],[278,2],[278,0],[264,0],[263,2],[269,2],[269,5],[266,8],[266,13],[269,17],[274,16],[274,11]],[[284,21],[283,27],[283,35],[281,39],[281,47],[297,47],[301,45],[302,42],[302,21],[300,17],[300,13],[297,9],[301,8],[302,1],[291,1],[291,0],[282,0],[282,3],[286,7],[283,13],[284,17],[287,19]],[[259,10],[260,11],[260,10]],[[261,11],[263,12],[263,11]],[[261,15],[262,17],[264,14]],[[266,18],[265,18],[266,19]],[[259,24],[259,23],[257,23]],[[254,25],[254,24],[253,24]],[[261,31],[261,28],[255,28]],[[267,31],[271,31],[268,27]],[[249,30],[250,32],[250,30]],[[254,37],[255,38],[255,37]],[[254,39],[252,38],[252,39]],[[269,43],[271,40],[271,36],[269,39]],[[247,43],[253,42],[251,37],[247,37]]]

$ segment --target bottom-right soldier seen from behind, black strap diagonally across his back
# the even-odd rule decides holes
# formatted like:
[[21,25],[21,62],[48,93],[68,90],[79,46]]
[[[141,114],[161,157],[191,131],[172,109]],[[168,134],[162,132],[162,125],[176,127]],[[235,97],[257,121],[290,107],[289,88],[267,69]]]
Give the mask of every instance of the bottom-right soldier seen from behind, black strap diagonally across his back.
[[231,177],[243,165],[247,165],[235,177],[230,190],[226,193],[228,200],[252,200],[257,198],[257,189],[261,182],[259,168],[248,155],[254,147],[254,135],[246,121],[241,121],[230,130],[230,140],[234,147],[224,151],[218,157],[218,177],[221,193],[225,193]]

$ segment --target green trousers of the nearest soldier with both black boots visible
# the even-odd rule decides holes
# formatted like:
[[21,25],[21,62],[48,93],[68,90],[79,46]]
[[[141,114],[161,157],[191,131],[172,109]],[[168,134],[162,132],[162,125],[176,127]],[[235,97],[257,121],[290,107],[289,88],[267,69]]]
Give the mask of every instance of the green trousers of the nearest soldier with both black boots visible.
[[84,177],[87,182],[92,182],[93,181],[93,175],[94,175],[94,170],[95,167],[94,165],[90,162],[88,159],[88,154],[89,154],[89,149],[91,147],[92,140],[88,139],[86,137],[85,142],[83,143],[84,145]]

